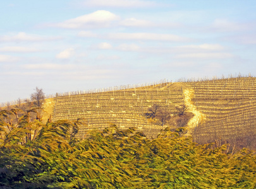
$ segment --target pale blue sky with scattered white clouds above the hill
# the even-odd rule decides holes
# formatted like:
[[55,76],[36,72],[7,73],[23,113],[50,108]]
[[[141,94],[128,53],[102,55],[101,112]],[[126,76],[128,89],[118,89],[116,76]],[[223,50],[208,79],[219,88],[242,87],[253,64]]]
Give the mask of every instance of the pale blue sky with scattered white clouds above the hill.
[[0,103],[256,72],[255,0],[0,2]]

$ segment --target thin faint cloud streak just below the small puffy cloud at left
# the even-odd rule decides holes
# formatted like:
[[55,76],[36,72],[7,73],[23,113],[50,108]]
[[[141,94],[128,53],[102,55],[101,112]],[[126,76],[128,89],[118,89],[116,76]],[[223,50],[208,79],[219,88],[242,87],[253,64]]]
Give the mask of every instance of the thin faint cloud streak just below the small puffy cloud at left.
[[52,64],[52,63],[46,63],[46,64],[25,64],[22,66],[25,69],[72,69],[74,66],[71,64]]

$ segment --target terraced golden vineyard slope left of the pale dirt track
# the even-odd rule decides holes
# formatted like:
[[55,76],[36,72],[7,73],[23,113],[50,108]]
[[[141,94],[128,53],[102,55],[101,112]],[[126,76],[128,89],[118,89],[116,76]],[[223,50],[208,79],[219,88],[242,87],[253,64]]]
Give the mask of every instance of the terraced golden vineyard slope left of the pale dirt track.
[[88,129],[104,129],[116,124],[121,129],[137,127],[148,137],[155,137],[163,127],[154,125],[144,113],[154,104],[176,112],[183,103],[181,84],[163,83],[156,86],[123,89],[104,93],[58,96],[54,120],[83,118],[86,125],[80,128],[83,138]]

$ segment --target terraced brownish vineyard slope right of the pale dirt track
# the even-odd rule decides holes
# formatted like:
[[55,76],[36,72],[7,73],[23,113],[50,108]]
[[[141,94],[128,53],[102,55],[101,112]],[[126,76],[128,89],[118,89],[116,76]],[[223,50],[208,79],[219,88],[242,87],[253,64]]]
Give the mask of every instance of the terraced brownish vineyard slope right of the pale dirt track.
[[195,127],[195,142],[215,139],[256,149],[256,78],[237,77],[186,83],[205,119]]

